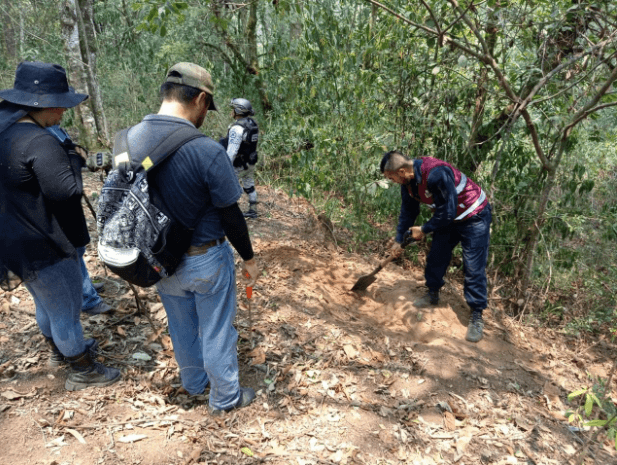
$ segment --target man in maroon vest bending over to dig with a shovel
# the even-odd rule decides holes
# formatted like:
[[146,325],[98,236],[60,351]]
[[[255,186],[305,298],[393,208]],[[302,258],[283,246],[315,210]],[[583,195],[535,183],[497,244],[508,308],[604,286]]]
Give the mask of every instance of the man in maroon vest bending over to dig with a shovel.
[[[445,283],[452,250],[460,242],[465,301],[471,309],[465,339],[478,342],[484,331],[482,311],[487,307],[486,263],[492,219],[486,194],[459,170],[436,158],[411,160],[392,151],[384,155],[380,169],[386,178],[401,185],[401,213],[390,256],[400,256],[403,237],[410,228],[416,241],[433,234],[424,272],[428,292],[414,306],[426,308],[439,303],[439,289]],[[422,226],[414,226],[420,203],[428,205],[433,216]]]

